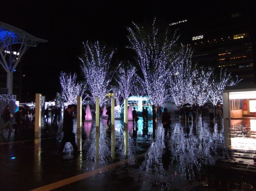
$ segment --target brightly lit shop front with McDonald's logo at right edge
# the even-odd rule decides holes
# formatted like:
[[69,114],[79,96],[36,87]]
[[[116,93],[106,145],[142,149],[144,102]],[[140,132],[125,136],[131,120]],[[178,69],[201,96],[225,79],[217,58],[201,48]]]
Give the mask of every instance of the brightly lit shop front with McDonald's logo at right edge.
[[223,91],[223,118],[255,118],[256,88]]

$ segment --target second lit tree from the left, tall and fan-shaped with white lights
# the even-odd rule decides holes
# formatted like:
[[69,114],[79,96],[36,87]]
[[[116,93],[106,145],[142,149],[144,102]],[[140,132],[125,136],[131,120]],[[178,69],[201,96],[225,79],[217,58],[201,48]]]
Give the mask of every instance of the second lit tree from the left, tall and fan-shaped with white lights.
[[90,98],[93,103],[99,97],[99,104],[107,101],[106,94],[109,92],[108,85],[111,81],[111,73],[109,73],[109,64],[113,56],[113,51],[110,54],[106,53],[106,47],[100,47],[99,42],[94,44],[83,43],[85,54],[82,61],[82,71],[86,80]]

